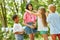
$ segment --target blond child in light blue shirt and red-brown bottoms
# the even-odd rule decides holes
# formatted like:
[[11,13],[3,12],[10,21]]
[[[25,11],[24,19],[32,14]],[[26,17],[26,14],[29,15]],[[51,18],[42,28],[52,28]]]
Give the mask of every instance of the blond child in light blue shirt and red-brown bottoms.
[[52,40],[56,40],[56,37],[60,40],[60,16],[56,13],[56,6],[54,4],[50,4],[49,15],[47,17],[47,22],[50,25],[50,34]]

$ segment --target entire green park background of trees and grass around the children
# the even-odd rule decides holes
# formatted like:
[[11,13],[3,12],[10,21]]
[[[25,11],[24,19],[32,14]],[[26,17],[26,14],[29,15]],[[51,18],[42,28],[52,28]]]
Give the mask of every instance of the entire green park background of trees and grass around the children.
[[[38,10],[40,6],[44,6],[47,12],[48,5],[55,4],[56,11],[60,13],[60,0],[0,0],[0,40],[15,40],[12,16],[14,14],[19,15],[19,23],[24,27],[23,16],[27,3],[31,3],[34,10]],[[49,26],[48,29],[48,38],[52,40]],[[28,35],[25,33],[24,40],[29,40]],[[35,40],[43,40],[39,32],[35,34]],[[58,38],[56,40],[58,40]]]

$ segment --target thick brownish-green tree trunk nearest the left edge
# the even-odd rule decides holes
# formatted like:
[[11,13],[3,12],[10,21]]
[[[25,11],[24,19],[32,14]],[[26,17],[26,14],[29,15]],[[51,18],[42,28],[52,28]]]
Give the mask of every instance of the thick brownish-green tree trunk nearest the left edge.
[[[7,27],[7,13],[6,13],[6,8],[5,8],[5,0],[3,0],[3,3],[1,5],[1,22],[3,27]],[[3,7],[4,6],[4,7]]]

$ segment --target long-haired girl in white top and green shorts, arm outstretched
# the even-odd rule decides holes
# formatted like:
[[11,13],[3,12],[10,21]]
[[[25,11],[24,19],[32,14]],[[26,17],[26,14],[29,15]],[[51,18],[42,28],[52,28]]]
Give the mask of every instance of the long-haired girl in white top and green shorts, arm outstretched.
[[[28,10],[26,10],[28,11]],[[28,11],[31,12],[31,11]],[[43,36],[44,40],[48,40],[48,27],[47,27],[47,21],[46,21],[46,10],[44,7],[39,7],[38,12],[37,13],[33,13],[32,14],[36,15],[38,17],[38,31],[40,32],[40,34]]]

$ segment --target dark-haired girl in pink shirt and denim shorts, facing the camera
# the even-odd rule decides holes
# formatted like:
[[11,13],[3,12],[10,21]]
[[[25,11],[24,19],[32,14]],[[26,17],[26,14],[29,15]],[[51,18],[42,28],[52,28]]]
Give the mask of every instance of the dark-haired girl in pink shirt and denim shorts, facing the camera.
[[[33,10],[32,4],[27,4],[26,9]],[[29,35],[30,40],[34,40],[34,33],[36,32],[36,16],[26,11],[24,13],[24,25],[26,25],[25,32]]]

